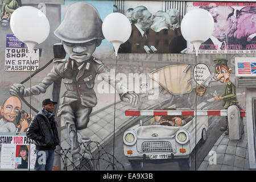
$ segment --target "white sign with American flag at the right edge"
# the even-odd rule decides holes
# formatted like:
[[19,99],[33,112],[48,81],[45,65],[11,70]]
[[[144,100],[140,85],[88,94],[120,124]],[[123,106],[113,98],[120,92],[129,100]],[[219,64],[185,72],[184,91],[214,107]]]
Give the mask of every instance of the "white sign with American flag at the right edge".
[[236,76],[256,76],[255,57],[236,57]]

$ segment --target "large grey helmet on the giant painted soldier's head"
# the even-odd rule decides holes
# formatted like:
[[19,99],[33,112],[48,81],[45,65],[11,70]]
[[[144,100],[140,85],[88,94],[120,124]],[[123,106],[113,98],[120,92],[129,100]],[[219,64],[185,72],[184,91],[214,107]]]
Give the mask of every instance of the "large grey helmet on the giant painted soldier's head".
[[102,20],[95,7],[85,2],[73,3],[54,34],[68,43],[103,40]]

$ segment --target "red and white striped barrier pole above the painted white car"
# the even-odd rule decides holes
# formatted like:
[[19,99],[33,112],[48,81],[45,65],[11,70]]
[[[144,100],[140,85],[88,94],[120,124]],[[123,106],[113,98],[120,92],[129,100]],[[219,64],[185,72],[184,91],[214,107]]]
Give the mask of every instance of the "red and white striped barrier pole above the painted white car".
[[[125,111],[125,115],[228,115],[228,110],[133,110],[128,109]],[[240,116],[245,117],[245,110],[240,110]]]

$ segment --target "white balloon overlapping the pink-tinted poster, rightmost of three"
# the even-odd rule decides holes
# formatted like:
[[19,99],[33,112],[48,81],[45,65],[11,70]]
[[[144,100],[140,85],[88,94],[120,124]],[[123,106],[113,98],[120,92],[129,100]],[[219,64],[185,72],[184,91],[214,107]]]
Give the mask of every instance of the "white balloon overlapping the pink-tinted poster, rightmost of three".
[[201,43],[209,39],[213,33],[214,20],[207,10],[193,9],[184,15],[180,28],[184,39],[195,47],[197,56]]

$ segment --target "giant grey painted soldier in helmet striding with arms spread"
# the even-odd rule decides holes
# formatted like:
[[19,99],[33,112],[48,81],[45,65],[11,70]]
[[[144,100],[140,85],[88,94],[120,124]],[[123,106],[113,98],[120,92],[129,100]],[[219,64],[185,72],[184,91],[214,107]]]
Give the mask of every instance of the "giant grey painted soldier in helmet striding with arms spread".
[[[55,35],[63,40],[63,46],[69,57],[53,60],[53,68],[47,77],[38,85],[32,86],[31,94],[45,93],[48,86],[62,78],[67,91],[60,98],[57,115],[65,122],[71,142],[71,154],[74,160],[79,159],[77,130],[85,129],[89,122],[92,108],[97,104],[94,92],[94,80],[100,74],[104,81],[115,86],[122,101],[133,106],[138,104],[138,95],[127,90],[115,78],[110,77],[105,65],[92,56],[96,47],[104,39],[102,20],[98,11],[89,3],[78,2],[71,5],[63,22],[55,30]],[[21,84],[13,84],[10,89],[13,95],[30,96],[30,89]]]

